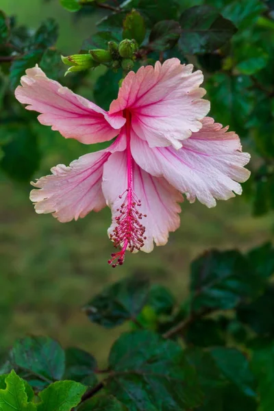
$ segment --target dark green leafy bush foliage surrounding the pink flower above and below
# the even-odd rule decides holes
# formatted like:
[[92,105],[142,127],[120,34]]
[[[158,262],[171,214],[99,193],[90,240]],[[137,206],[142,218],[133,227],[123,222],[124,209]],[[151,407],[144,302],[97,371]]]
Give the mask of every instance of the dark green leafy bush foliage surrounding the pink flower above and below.
[[[105,66],[93,90],[103,108],[130,69],[171,57],[202,69],[216,121],[229,124],[253,153],[246,200],[256,216],[274,209],[273,1],[60,3],[79,18],[105,14],[97,33],[75,50],[92,56],[95,73]],[[134,49],[121,57],[116,45],[127,39]],[[42,158],[36,114],[14,99],[21,76],[39,64],[49,77],[79,90],[90,75],[90,57],[78,70],[71,56],[69,71],[77,73],[64,77],[57,40],[53,19],[34,31],[0,11],[0,168],[21,182]],[[90,53],[97,49],[105,53]],[[245,253],[203,253],[190,266],[184,301],[145,275],[106,288],[84,312],[108,329],[127,323],[107,368],[99,369],[95,353],[64,349],[49,337],[17,340],[1,362],[0,411],[273,410],[273,273],[274,249],[265,243]]]

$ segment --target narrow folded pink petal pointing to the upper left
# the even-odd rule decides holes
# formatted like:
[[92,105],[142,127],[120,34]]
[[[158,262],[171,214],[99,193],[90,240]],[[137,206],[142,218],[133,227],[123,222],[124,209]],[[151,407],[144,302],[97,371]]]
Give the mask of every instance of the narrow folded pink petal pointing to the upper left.
[[49,79],[38,66],[27,69],[26,74],[15,97],[28,104],[27,110],[42,113],[38,116],[41,124],[84,144],[108,141],[119,134],[125,123],[123,116],[109,116],[96,104]]

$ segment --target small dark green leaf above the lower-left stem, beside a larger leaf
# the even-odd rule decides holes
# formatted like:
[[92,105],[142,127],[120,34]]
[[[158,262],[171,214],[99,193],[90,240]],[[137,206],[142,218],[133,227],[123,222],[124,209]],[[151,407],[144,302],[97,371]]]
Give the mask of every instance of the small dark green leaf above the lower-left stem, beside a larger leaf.
[[97,383],[95,369],[97,369],[97,362],[90,353],[79,348],[66,349],[65,379],[73,379],[73,381],[94,386]]

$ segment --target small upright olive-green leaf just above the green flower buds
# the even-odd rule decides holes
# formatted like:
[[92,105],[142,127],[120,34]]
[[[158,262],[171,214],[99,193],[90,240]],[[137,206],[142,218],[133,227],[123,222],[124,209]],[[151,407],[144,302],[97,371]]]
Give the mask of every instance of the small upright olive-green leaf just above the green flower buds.
[[132,10],[123,21],[123,38],[134,39],[141,45],[145,40],[145,34],[145,19],[136,10]]

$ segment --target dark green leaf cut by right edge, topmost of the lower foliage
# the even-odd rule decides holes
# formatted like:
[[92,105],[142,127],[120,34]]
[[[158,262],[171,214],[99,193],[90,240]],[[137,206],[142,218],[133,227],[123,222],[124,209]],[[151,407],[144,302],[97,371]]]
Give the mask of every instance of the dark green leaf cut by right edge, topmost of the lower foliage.
[[247,254],[251,266],[262,278],[268,278],[274,273],[274,248],[271,242],[251,249]]

